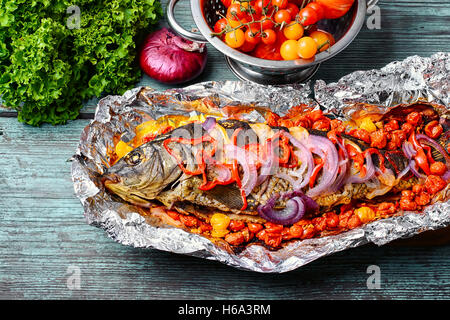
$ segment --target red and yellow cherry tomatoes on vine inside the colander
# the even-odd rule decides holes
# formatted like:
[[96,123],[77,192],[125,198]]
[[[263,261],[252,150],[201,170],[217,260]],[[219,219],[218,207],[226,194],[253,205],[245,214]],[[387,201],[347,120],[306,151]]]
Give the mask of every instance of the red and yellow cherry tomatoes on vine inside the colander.
[[342,17],[354,1],[222,0],[226,16],[221,15],[212,35],[257,58],[309,60],[335,43],[317,22]]

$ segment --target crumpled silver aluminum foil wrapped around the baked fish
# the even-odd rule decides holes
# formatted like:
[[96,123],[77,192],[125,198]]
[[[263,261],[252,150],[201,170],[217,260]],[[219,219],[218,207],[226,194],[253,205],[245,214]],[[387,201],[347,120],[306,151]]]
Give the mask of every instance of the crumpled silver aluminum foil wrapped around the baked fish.
[[[100,100],[95,119],[82,132],[72,158],[72,179],[89,224],[102,228],[124,245],[153,248],[217,260],[232,267],[257,272],[282,273],[311,261],[366,243],[384,245],[390,241],[450,225],[450,201],[428,206],[423,213],[404,213],[374,221],[341,234],[295,241],[278,251],[252,244],[232,254],[203,236],[167,226],[143,209],[127,204],[105,191],[100,175],[108,163],[108,150],[114,146],[115,134],[131,139],[141,122],[166,114],[201,112],[190,109],[190,101],[205,98],[219,108],[248,104],[269,107],[284,114],[301,103],[318,108],[318,103],[336,117],[349,116],[344,110],[371,103],[388,109],[399,103],[418,100],[449,106],[450,55],[438,53],[430,58],[410,57],[380,70],[360,71],[337,83],[317,81],[314,85],[261,86],[242,81],[199,83],[183,89],[157,92],[136,88],[123,96]],[[314,88],[314,94],[312,92]],[[252,111],[249,121],[262,121]],[[126,138],[123,138],[126,139]]]

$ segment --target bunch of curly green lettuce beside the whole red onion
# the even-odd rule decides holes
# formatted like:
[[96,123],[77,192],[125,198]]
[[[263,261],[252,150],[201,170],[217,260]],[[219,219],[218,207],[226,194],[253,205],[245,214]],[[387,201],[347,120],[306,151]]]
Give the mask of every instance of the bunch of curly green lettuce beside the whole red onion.
[[156,0],[0,0],[0,97],[33,126],[75,119],[83,102],[141,77],[137,43]]

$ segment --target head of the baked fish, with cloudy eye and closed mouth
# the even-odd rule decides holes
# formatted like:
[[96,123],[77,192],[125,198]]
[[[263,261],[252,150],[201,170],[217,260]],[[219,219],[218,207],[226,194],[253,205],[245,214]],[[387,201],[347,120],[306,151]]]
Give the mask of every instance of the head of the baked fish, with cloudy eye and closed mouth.
[[106,189],[125,201],[148,207],[150,201],[181,175],[178,164],[164,147],[147,143],[108,168],[102,181]]

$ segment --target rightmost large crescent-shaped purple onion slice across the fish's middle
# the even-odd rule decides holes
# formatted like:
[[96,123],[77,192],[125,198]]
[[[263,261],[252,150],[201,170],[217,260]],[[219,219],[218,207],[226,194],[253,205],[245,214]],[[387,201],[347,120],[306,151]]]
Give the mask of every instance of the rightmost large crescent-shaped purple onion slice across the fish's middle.
[[[307,147],[319,156],[322,157],[324,167],[322,170],[322,177],[317,185],[308,190],[307,195],[309,197],[317,197],[325,191],[329,191],[328,188],[334,183],[338,173],[339,155],[335,145],[327,138],[309,135]],[[375,173],[375,170],[374,170]]]

